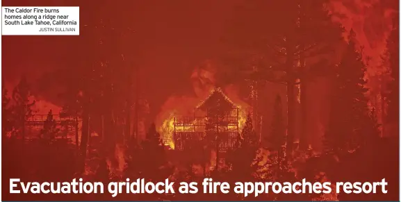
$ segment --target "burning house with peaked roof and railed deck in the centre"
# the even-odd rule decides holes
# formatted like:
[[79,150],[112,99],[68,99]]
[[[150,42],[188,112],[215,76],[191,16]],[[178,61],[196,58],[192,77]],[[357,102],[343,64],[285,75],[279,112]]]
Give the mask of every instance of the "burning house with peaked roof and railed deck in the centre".
[[192,117],[174,117],[172,141],[174,149],[186,151],[203,142],[215,145],[216,151],[230,149],[240,137],[240,107],[215,87],[211,94],[195,107]]

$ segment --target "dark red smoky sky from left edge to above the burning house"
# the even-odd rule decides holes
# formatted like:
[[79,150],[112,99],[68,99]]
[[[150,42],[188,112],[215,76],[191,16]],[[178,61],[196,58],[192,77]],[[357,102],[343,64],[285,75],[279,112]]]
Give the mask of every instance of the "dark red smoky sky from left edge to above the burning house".
[[[238,1],[2,1],[3,6],[80,6],[81,34],[100,22],[121,29],[115,46],[140,67],[142,92],[158,106],[190,85],[197,63],[218,55],[224,21]],[[112,22],[112,23],[111,23]],[[133,32],[126,31],[131,28]],[[90,32],[96,29],[91,28]],[[93,33],[97,37],[97,33]],[[3,77],[15,85],[22,74],[35,82],[45,72],[67,67],[74,73],[81,36],[3,36]],[[95,50],[94,50],[95,51]],[[152,74],[152,76],[151,76]],[[163,85],[161,85],[163,83]],[[50,88],[47,91],[51,90]],[[40,94],[51,94],[42,90]],[[49,99],[52,99],[49,97]]]

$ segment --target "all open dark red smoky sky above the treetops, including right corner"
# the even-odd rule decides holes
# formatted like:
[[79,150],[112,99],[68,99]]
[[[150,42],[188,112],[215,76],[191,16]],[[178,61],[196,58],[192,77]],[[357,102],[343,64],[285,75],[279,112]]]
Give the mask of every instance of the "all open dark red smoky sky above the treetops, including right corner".
[[[227,34],[227,21],[245,2],[3,0],[3,6],[80,6],[81,17],[80,36],[3,36],[3,79],[10,88],[25,74],[37,96],[61,105],[55,96],[56,81],[45,87],[38,87],[35,81],[56,69],[68,68],[64,74],[74,74],[74,69],[80,68],[79,58],[90,54],[82,48],[82,35],[99,37],[103,22],[116,33],[104,36],[113,41],[106,49],[123,54],[140,67],[142,93],[151,108],[158,108],[171,94],[190,88],[190,74],[196,65],[224,54],[227,48],[221,38]],[[378,61],[391,29],[387,11],[398,10],[398,1],[333,0],[333,6],[340,14],[337,20],[347,29],[357,28],[361,44]]]

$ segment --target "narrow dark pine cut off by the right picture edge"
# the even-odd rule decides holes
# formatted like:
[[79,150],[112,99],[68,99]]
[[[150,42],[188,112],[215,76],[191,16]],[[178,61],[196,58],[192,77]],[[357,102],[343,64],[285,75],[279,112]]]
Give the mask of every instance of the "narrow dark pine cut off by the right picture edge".
[[[393,18],[393,30],[387,40],[386,55],[393,80],[388,84],[388,122],[398,123],[400,111],[400,28],[398,15]],[[398,127],[397,127],[398,128]],[[397,132],[398,133],[398,132]]]

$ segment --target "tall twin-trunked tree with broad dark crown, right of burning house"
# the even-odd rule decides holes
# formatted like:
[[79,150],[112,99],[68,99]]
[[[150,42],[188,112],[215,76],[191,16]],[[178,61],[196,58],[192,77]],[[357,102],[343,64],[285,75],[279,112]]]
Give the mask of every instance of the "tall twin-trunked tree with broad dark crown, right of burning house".
[[[256,3],[257,2],[257,3]],[[327,75],[326,60],[306,64],[306,60],[332,53],[333,44],[341,42],[341,26],[332,22],[328,1],[255,1],[241,7],[234,19],[229,41],[249,55],[237,69],[250,81],[281,83],[287,88],[288,137],[286,152],[292,156],[295,135],[295,87],[301,85],[302,120],[308,109],[306,93],[309,82]],[[280,19],[280,20],[277,20]],[[252,23],[249,23],[252,22]],[[246,58],[246,57],[245,57]],[[247,68],[249,67],[249,68]],[[302,124],[300,145],[306,149],[308,138]]]

